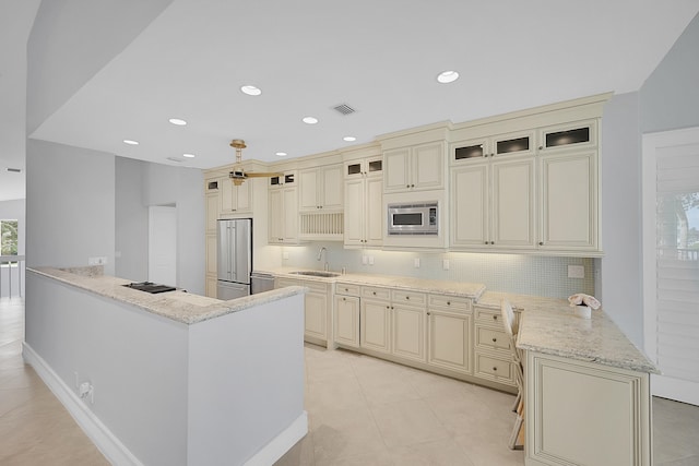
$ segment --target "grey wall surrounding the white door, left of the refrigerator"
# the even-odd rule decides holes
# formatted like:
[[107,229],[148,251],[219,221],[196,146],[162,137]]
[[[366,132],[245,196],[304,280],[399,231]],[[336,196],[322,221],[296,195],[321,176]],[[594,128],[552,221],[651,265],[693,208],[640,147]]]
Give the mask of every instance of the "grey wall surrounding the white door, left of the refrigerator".
[[204,178],[199,169],[116,157],[116,275],[147,279],[149,206],[177,207],[177,286],[204,295]]

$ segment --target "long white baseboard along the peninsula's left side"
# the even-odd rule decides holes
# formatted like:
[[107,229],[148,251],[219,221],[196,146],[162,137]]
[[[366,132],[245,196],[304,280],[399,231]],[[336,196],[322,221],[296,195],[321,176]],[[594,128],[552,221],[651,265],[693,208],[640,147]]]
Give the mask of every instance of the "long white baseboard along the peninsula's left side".
[[[143,464],[117,439],[91,411],[85,403],[63,382],[29,345],[23,343],[22,356],[34,368],[44,383],[61,402],[103,455],[114,465],[143,466]],[[303,437],[303,435],[301,435]]]

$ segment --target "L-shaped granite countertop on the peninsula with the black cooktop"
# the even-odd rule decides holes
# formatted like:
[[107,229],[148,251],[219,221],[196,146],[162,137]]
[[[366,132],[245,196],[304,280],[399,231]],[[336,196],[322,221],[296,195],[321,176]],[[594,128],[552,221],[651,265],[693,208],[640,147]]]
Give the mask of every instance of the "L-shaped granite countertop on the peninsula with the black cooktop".
[[123,286],[131,283],[131,280],[104,275],[104,267],[100,265],[67,268],[27,267],[27,272],[33,272],[116,301],[126,302],[183,324],[208,321],[232,312],[306,292],[305,287],[294,286],[222,301],[205,296],[192,295],[181,289],[155,295],[139,291]]

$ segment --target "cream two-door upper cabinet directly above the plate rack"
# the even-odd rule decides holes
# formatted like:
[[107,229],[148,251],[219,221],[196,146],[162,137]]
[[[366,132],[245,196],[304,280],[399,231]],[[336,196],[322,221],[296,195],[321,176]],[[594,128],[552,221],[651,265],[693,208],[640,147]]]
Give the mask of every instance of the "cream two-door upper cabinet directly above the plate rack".
[[342,211],[343,166],[340,164],[299,171],[300,212]]

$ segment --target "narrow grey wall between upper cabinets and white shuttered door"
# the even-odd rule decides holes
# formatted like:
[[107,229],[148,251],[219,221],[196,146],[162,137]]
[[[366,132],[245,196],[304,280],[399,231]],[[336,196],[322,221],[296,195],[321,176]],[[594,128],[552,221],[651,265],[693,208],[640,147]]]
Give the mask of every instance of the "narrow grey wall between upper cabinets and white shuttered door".
[[639,347],[643,342],[641,158],[638,93],[609,99],[602,119],[602,244],[600,300]]

